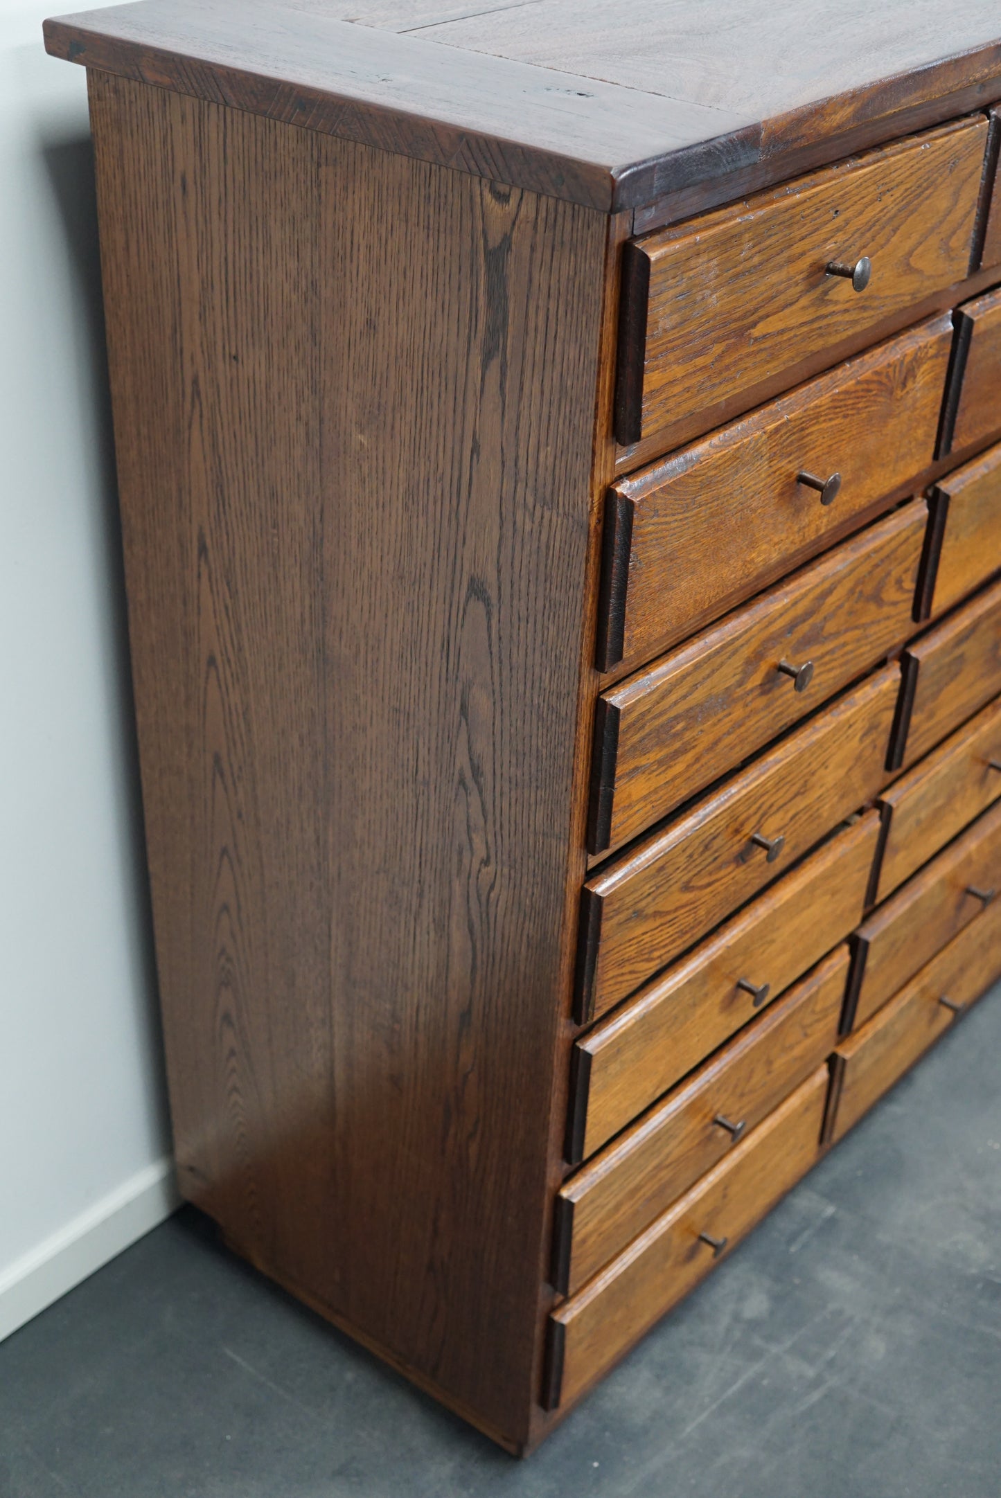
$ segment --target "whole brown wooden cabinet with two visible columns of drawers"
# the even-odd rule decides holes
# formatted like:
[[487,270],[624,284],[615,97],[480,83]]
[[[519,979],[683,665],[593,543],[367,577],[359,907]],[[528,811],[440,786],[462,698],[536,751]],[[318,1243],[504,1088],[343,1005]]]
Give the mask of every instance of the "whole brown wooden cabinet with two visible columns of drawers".
[[45,25],[180,1188],[511,1452],[1001,969],[1001,25],[889,3]]

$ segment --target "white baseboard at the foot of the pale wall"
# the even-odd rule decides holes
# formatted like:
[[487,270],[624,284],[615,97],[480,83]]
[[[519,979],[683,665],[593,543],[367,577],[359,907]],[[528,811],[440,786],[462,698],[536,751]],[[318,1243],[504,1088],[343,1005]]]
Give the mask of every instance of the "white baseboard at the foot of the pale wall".
[[0,1272],[0,1342],[45,1311],[180,1204],[174,1161],[145,1165]]

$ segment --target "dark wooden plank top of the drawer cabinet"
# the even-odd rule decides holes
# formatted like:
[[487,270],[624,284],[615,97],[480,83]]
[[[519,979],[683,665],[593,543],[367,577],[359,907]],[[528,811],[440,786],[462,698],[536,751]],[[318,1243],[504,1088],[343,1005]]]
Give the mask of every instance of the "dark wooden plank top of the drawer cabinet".
[[139,0],[55,57],[604,211],[1001,97],[997,0]]

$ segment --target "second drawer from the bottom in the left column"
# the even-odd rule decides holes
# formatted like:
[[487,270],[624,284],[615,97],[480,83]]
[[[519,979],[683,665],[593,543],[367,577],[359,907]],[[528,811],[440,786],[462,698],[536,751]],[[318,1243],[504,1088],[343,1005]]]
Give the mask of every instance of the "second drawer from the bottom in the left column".
[[842,945],[563,1186],[557,1290],[598,1273],[827,1059],[847,977]]

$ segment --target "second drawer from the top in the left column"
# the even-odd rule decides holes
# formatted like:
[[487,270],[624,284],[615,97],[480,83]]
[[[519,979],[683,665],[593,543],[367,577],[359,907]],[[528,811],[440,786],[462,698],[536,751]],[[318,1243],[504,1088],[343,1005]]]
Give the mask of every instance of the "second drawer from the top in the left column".
[[950,351],[946,315],[616,484],[598,670],[649,661],[904,490],[935,455]]

